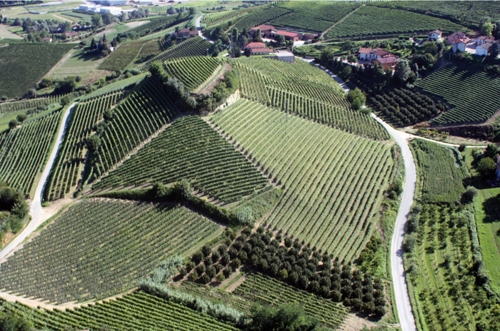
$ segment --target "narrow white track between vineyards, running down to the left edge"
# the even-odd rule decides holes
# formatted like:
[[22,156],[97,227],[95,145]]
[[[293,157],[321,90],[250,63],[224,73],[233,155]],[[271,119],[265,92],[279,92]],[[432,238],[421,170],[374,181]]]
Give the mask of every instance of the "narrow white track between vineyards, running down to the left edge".
[[72,103],[71,106],[69,106],[66,109],[66,112],[63,115],[61,126],[59,127],[59,132],[57,133],[56,137],[56,144],[52,149],[49,161],[47,161],[47,164],[45,165],[44,168],[44,172],[41,174],[39,183],[36,186],[35,195],[29,205],[29,213],[31,215],[31,221],[29,222],[28,226],[26,226],[26,228],[24,228],[24,230],[21,233],[19,233],[19,235],[17,235],[16,238],[14,238],[9,243],[9,245],[6,245],[3,250],[0,250],[0,261],[3,258],[5,258],[6,255],[9,255],[9,253],[11,253],[11,251],[14,250],[14,248],[16,248],[17,245],[19,245],[24,241],[24,239],[28,238],[29,235],[31,235],[31,233],[33,233],[33,231],[36,230],[36,228],[38,228],[41,223],[41,195],[42,192],[44,191],[45,183],[47,178],[49,177],[52,165],[54,164],[54,160],[56,158],[59,146],[61,146],[62,140],[64,138],[64,132],[66,131],[66,126],[68,124],[69,113],[71,113],[71,110],[75,105],[76,102]]

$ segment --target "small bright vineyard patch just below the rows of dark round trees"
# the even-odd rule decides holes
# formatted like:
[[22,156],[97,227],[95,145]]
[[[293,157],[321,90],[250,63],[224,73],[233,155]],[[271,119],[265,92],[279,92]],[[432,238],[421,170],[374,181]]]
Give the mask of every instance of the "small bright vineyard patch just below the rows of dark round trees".
[[266,305],[301,305],[306,314],[318,318],[329,327],[339,327],[346,317],[346,308],[316,297],[316,295],[296,290],[284,282],[259,273],[251,273],[246,280],[236,287],[235,294]]

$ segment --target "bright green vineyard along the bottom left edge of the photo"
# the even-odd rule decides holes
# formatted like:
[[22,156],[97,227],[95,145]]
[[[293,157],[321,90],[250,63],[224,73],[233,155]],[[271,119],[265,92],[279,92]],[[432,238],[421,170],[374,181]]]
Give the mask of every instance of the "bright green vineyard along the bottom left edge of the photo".
[[97,302],[73,310],[34,309],[19,302],[6,303],[8,312],[26,317],[39,330],[151,330],[151,331],[237,331],[213,317],[185,305],[133,292],[114,300]]

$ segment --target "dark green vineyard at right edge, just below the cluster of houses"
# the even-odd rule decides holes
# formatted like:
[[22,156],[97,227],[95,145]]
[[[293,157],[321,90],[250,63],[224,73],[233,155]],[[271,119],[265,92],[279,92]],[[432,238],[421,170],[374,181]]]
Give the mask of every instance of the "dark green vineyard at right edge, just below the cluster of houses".
[[454,106],[434,120],[439,125],[484,122],[499,110],[500,78],[482,71],[446,66],[416,83]]

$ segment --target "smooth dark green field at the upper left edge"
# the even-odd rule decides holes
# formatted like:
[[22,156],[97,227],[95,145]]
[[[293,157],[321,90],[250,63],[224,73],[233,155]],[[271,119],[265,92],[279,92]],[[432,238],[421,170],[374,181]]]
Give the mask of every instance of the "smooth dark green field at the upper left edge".
[[74,44],[14,44],[0,47],[0,96],[23,96]]

